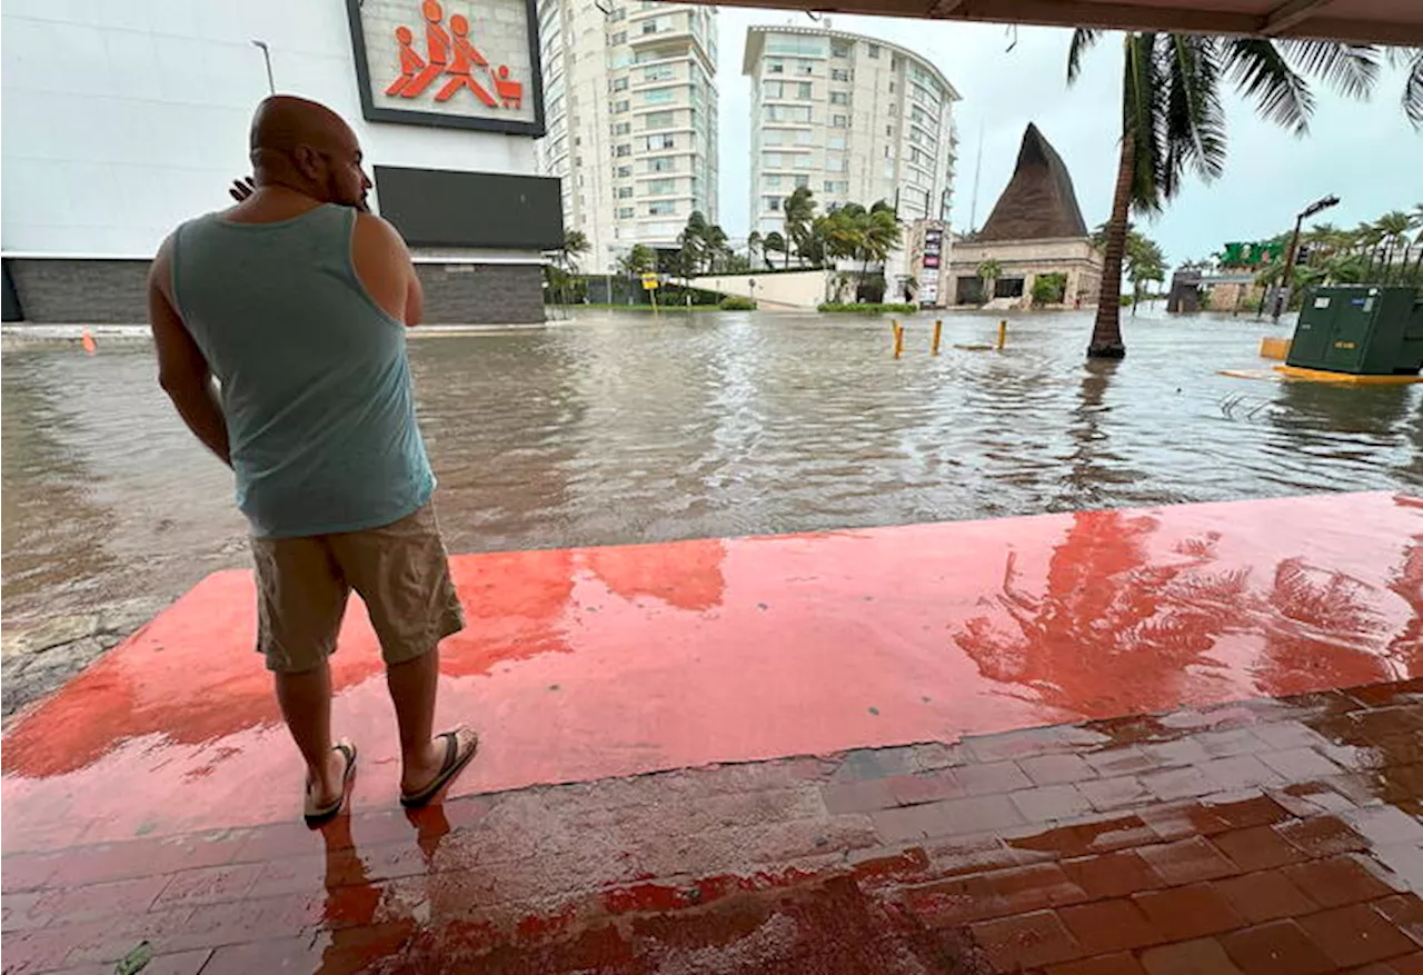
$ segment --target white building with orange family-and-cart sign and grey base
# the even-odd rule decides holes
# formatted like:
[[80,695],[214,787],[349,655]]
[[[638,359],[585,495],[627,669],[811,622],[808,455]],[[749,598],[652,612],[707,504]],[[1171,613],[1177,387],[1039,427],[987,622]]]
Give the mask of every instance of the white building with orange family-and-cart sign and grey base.
[[142,322],[158,245],[250,171],[270,77],[356,130],[430,320],[542,320],[535,31],[529,0],[4,3],[0,317]]

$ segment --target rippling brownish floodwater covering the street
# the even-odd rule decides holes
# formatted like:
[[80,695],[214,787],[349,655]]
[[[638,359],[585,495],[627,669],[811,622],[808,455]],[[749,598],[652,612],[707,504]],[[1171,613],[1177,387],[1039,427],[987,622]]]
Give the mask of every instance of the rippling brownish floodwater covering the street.
[[[1224,377],[1248,317],[1089,312],[912,319],[589,313],[411,343],[451,551],[993,518],[1423,483],[1416,386]],[[231,475],[191,438],[142,342],[0,352],[0,629],[172,599],[243,565]]]

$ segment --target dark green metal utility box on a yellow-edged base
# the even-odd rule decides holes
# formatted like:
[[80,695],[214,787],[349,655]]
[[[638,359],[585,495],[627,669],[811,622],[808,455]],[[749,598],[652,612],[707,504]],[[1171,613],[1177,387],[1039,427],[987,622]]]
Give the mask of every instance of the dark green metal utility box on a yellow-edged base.
[[1288,364],[1355,376],[1416,376],[1423,367],[1423,293],[1376,285],[1308,292]]

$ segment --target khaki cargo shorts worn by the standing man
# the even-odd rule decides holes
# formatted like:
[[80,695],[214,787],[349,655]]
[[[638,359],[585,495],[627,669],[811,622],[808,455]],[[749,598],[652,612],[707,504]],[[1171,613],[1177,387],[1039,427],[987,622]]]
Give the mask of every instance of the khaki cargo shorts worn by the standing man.
[[433,504],[381,528],[253,538],[258,652],[268,670],[302,673],[336,650],[351,589],[386,665],[413,660],[464,629]]

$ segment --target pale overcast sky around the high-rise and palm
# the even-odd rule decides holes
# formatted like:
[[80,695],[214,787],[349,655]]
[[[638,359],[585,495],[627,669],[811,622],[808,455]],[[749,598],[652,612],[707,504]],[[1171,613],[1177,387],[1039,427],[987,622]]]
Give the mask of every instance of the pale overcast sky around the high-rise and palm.
[[[720,221],[733,238],[747,233],[750,182],[750,84],[741,75],[746,28],[751,24],[813,26],[803,13],[721,7],[717,85],[721,93]],[[1083,75],[1066,84],[1070,31],[946,24],[889,17],[830,17],[835,30],[901,44],[933,61],[959,90],[959,161],[953,184],[953,226],[966,229],[973,168],[982,141],[978,225],[1013,174],[1027,122],[1037,122],[1063,157],[1090,226],[1107,218],[1116,181],[1121,105],[1121,47],[1104,37]],[[1192,181],[1146,232],[1173,263],[1202,258],[1227,241],[1271,236],[1294,223],[1302,206],[1328,194],[1343,202],[1318,219],[1342,226],[1372,221],[1389,209],[1423,204],[1419,168],[1423,135],[1399,108],[1403,75],[1385,71],[1372,102],[1339,98],[1316,85],[1311,135],[1295,139],[1227,101],[1229,159],[1211,185]],[[982,139],[980,139],[982,137]],[[865,201],[872,202],[872,201]]]

